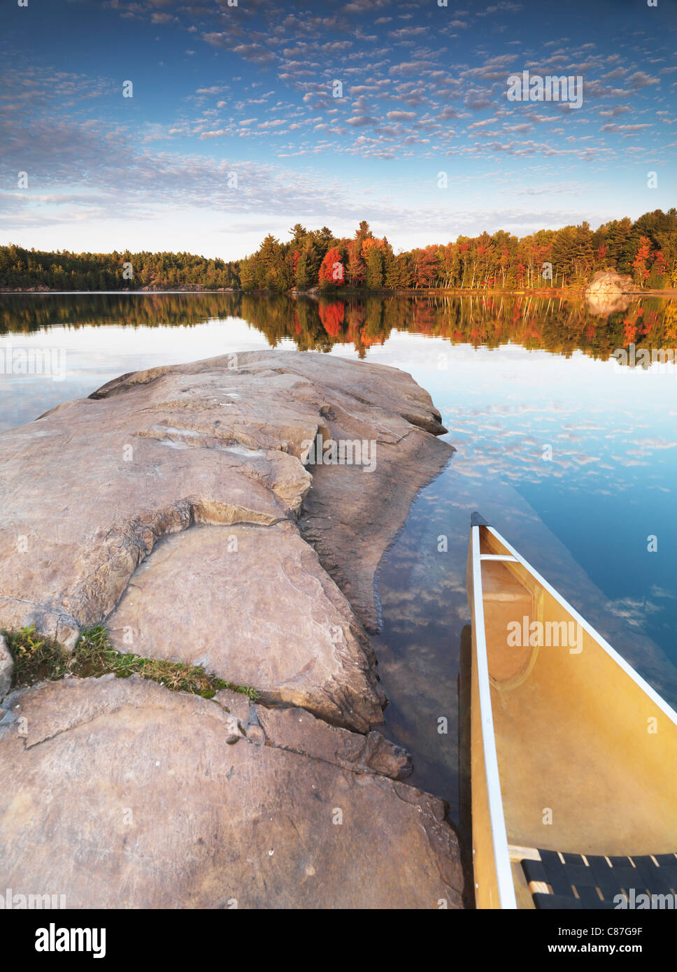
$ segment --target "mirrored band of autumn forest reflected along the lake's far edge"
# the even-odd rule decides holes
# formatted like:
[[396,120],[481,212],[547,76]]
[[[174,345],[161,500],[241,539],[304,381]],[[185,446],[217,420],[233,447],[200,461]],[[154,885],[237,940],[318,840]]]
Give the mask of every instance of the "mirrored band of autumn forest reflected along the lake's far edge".
[[442,337],[454,344],[498,347],[509,342],[569,355],[609,358],[617,348],[677,346],[677,300],[640,297],[625,310],[594,315],[584,300],[529,295],[368,296],[314,300],[287,295],[88,294],[3,295],[0,333],[51,326],[195,327],[237,317],[271,347],[291,338],[303,351],[352,344],[364,358],[392,330]]

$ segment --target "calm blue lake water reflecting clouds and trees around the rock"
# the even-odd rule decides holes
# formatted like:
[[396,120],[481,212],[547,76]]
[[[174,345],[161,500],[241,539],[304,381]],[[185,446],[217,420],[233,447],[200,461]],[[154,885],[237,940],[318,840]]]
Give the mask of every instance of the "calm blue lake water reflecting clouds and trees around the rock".
[[57,380],[0,373],[0,430],[125,371],[230,351],[320,350],[409,371],[457,451],[381,564],[376,649],[385,732],[412,752],[412,781],[456,816],[473,509],[677,705],[677,366],[613,357],[631,345],[677,348],[677,302],[608,310],[519,296],[0,295],[3,361],[10,348],[15,362],[52,349],[64,365]]

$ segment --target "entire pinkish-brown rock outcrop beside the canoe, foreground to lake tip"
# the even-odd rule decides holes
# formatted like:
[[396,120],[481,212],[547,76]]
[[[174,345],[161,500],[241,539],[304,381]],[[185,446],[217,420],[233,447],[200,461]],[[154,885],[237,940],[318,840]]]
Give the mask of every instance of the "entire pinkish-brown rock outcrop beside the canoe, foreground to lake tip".
[[[462,907],[445,803],[375,728],[368,635],[444,432],[405,372],[249,352],[123,375],[0,434],[0,627],[72,649],[104,624],[122,652],[256,690],[10,691],[0,884],[66,907]],[[368,443],[373,469],[307,465],[318,434],[353,459]]]

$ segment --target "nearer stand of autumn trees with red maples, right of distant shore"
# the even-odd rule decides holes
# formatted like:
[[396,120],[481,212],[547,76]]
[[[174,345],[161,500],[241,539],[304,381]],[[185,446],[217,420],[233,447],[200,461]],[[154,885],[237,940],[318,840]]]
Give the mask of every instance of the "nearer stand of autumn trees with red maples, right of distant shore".
[[674,208],[595,230],[582,223],[519,239],[500,229],[402,253],[366,222],[352,239],[333,236],[327,226],[297,224],[290,233],[290,242],[268,234],[255,254],[240,260],[243,291],[543,290],[585,286],[598,270],[628,274],[640,289],[677,287]]

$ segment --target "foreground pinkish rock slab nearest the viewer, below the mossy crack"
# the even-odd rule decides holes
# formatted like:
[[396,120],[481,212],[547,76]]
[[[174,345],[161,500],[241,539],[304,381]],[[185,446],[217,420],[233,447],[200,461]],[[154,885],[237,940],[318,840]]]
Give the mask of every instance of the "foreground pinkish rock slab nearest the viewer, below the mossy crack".
[[15,894],[68,908],[461,907],[444,804],[406,783],[238,740],[217,703],[135,676],[43,683],[6,704],[0,885]]

